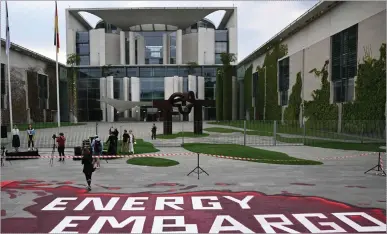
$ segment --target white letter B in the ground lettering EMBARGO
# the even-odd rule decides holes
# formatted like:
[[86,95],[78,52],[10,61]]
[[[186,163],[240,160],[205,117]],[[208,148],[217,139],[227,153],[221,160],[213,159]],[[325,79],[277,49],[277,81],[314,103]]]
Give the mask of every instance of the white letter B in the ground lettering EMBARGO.
[[[164,220],[174,220],[174,224],[164,224]],[[185,231],[164,231],[164,228],[185,228]],[[198,233],[196,224],[185,224],[184,216],[155,216],[152,233]]]

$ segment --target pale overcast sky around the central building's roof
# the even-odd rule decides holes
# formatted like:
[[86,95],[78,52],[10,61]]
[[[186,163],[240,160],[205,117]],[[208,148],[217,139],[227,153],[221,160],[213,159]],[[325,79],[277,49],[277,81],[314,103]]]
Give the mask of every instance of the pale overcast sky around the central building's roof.
[[[317,1],[58,1],[60,54],[66,62],[66,8],[103,7],[238,7],[238,61],[241,61],[272,36],[301,16]],[[5,3],[1,5],[1,37],[5,38]],[[54,1],[10,1],[8,15],[11,41],[32,51],[55,59]],[[94,27],[99,18],[82,13]],[[223,12],[207,18],[217,26]]]

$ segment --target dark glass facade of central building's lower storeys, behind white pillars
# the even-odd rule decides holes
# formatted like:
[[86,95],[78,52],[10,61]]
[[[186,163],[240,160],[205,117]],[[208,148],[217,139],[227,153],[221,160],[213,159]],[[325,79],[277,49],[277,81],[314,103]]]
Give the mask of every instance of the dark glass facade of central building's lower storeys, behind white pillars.
[[[108,72],[114,77],[113,95],[120,99],[122,96],[123,77],[140,78],[140,101],[164,99],[164,78],[170,76],[183,77],[183,92],[188,91],[188,74],[203,76],[204,97],[215,100],[216,70],[219,66],[114,66],[78,68],[78,118],[79,121],[100,121],[100,78]],[[128,98],[131,100],[130,88]],[[205,108],[205,119],[216,117],[215,108]]]

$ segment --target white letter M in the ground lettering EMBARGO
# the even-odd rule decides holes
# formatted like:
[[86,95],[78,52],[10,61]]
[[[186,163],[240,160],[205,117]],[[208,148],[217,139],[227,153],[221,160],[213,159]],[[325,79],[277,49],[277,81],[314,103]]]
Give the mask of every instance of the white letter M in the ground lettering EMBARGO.
[[108,222],[112,228],[123,228],[129,223],[134,222],[132,230],[126,231],[128,233],[143,233],[145,218],[145,216],[132,216],[119,223],[113,216],[101,216],[95,221],[88,233],[99,233],[106,222]]

